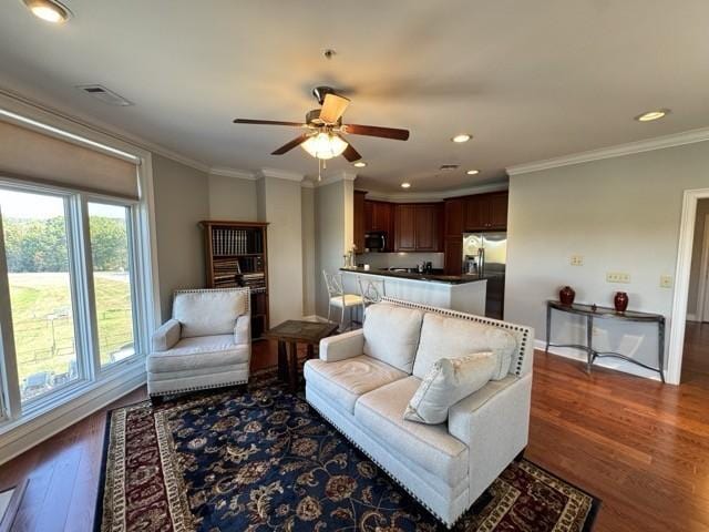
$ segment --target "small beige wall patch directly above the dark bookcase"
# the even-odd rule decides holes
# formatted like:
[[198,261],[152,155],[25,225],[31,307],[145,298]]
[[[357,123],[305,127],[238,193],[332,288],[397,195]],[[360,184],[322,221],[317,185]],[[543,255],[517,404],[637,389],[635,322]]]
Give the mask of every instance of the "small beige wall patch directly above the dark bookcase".
[[256,182],[209,175],[209,217],[235,222],[255,222]]

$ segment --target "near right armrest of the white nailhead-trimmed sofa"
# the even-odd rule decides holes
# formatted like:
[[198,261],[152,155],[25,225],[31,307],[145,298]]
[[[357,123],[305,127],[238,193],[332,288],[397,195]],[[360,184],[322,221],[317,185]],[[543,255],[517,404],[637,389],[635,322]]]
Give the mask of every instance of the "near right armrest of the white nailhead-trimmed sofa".
[[469,497],[477,499],[527,444],[532,374],[490,381],[449,409],[448,430],[469,447]]

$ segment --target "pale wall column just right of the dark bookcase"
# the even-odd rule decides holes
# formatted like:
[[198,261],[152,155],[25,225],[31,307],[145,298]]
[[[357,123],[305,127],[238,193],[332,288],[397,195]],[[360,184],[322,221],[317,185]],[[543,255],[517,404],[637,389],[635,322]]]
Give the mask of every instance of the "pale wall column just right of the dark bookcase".
[[257,215],[268,222],[270,326],[302,317],[302,198],[300,183],[263,176]]

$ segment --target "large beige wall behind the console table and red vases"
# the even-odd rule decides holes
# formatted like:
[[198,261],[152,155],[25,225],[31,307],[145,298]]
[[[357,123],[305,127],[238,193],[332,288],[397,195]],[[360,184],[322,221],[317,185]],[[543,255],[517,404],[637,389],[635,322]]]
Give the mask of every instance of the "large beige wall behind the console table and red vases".
[[[659,282],[675,274],[682,193],[708,186],[707,143],[512,176],[505,319],[545,338],[545,300],[564,285],[578,301],[608,306],[624,290],[630,309],[670,317],[672,289]],[[583,266],[569,265],[573,254]],[[631,283],[606,283],[607,272],[629,273]],[[555,324],[555,341],[584,344],[580,321]],[[655,364],[654,330],[596,320],[594,341]]]

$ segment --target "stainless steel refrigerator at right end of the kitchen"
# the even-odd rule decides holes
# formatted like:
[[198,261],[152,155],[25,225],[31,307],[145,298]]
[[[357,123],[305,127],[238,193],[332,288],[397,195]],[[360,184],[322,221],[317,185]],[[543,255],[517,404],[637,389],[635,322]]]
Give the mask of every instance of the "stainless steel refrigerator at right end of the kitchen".
[[487,279],[485,316],[503,319],[507,233],[465,233],[463,235],[463,273]]

